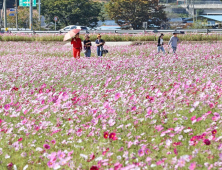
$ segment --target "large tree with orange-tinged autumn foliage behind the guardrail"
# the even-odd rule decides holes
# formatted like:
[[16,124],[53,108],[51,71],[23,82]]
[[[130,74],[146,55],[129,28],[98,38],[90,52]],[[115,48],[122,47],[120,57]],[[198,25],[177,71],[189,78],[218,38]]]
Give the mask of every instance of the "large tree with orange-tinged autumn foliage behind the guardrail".
[[142,22],[156,23],[167,21],[164,6],[158,0],[110,0],[106,4],[109,17],[120,26],[129,23],[133,29],[142,28]]

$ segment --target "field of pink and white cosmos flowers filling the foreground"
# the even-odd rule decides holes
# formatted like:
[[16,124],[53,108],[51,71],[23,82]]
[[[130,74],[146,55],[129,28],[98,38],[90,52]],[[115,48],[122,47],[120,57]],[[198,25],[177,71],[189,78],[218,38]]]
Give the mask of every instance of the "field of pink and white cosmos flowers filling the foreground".
[[222,43],[1,42],[0,169],[222,169]]

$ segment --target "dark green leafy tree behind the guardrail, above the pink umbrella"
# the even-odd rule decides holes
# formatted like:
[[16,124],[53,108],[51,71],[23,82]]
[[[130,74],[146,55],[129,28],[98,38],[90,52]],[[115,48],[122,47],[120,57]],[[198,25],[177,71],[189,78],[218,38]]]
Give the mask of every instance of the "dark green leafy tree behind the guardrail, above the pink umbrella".
[[44,0],[41,1],[41,15],[48,22],[58,16],[61,25],[85,25],[95,27],[101,11],[101,4],[92,0]]

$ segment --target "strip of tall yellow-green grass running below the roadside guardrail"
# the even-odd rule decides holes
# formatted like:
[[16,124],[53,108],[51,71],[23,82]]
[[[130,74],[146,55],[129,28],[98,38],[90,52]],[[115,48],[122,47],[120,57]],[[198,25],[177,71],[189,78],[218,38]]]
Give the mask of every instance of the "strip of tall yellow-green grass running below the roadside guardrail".
[[[159,34],[101,34],[105,41],[157,41]],[[164,36],[165,41],[169,41],[172,34],[167,33]],[[63,41],[64,35],[61,34],[2,34],[0,41]],[[97,34],[90,34],[91,41],[95,41]],[[181,41],[222,41],[221,34],[180,34]],[[84,35],[80,35],[83,40]]]

